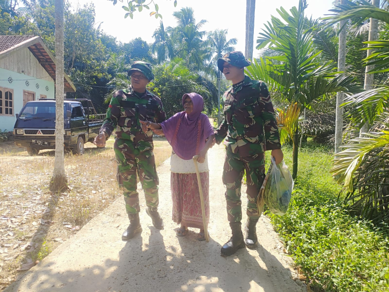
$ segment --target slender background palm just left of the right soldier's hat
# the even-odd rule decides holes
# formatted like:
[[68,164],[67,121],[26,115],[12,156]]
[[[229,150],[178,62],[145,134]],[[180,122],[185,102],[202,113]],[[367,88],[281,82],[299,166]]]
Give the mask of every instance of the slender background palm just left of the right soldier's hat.
[[217,68],[217,59],[221,58],[224,54],[230,53],[232,51],[235,51],[235,47],[233,45],[236,45],[238,40],[234,38],[230,38],[227,40],[227,29],[217,29],[213,32],[211,32],[208,35],[208,43],[210,48],[212,49],[213,58],[211,60],[211,64],[213,68],[216,68],[216,76],[217,76],[217,119],[218,121],[221,121],[220,115],[220,83],[221,83],[221,72]]

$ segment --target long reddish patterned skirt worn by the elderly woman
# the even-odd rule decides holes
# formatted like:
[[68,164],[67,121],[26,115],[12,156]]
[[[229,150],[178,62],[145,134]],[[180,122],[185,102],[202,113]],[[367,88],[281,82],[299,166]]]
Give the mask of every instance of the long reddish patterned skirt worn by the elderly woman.
[[[200,173],[204,195],[205,216],[210,221],[209,172]],[[171,172],[170,186],[173,200],[173,221],[193,228],[203,228],[200,194],[195,173]]]

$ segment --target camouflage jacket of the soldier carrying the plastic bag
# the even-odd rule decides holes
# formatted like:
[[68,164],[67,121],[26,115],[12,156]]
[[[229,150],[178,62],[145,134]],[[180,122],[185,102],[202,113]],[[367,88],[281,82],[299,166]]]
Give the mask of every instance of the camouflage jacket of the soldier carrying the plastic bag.
[[224,121],[215,131],[216,143],[227,136],[226,146],[240,157],[258,156],[280,149],[280,134],[270,94],[264,82],[242,82],[224,93]]

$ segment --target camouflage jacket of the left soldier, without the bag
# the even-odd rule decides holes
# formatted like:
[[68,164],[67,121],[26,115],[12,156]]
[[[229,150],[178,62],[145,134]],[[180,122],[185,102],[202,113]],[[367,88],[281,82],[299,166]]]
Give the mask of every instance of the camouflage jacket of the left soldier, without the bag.
[[118,138],[130,140],[135,144],[145,143],[147,146],[153,141],[153,132],[143,132],[140,120],[160,123],[165,119],[163,105],[157,95],[146,90],[139,98],[132,87],[129,87],[113,94],[100,131],[106,131],[110,136],[116,128],[115,134]]

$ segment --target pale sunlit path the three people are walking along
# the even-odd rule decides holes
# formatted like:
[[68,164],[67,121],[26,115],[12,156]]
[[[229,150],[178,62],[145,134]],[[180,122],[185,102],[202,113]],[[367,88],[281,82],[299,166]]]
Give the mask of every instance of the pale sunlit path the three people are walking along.
[[[223,146],[209,153],[211,220],[210,242],[197,241],[193,230],[176,237],[171,220],[169,160],[158,168],[159,211],[165,229],[157,230],[146,215],[143,192],[143,232],[131,241],[121,240],[128,225],[124,201],[117,199],[89,221],[74,237],[61,244],[38,265],[11,284],[6,292],[302,292],[306,287],[283,254],[283,246],[269,219],[258,223],[261,245],[241,249],[230,257],[220,256],[220,246],[230,236],[225,188],[221,181]],[[245,189],[242,190],[245,194]],[[246,199],[243,198],[246,221]]]

